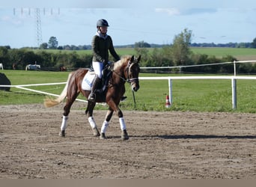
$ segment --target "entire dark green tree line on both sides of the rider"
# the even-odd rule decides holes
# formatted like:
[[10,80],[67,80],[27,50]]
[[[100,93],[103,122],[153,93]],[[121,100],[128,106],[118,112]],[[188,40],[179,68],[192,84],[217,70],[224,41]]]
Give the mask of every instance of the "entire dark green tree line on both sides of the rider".
[[[141,55],[141,67],[178,67],[198,64],[218,64],[226,61],[237,61],[231,55],[222,58],[215,56],[194,54],[191,49],[192,31],[185,28],[180,34],[174,36],[171,45],[155,47],[152,49],[144,41],[135,43],[135,55]],[[51,49],[58,46],[55,37],[51,37]],[[256,44],[256,38],[253,41]],[[251,43],[252,44],[252,43]],[[151,48],[149,50],[149,48]],[[73,52],[48,52],[31,49],[10,49],[10,46],[0,46],[0,63],[4,64],[5,69],[25,70],[27,64],[40,64],[47,67],[45,70],[58,70],[60,67],[67,67],[68,70],[75,70],[79,67],[91,67],[92,55],[78,55]],[[113,61],[110,56],[110,61]],[[237,64],[239,73],[256,73],[256,64]],[[180,72],[180,68],[164,70],[165,72]],[[182,69],[188,73],[234,73],[233,64],[207,66],[207,67],[186,67]]]

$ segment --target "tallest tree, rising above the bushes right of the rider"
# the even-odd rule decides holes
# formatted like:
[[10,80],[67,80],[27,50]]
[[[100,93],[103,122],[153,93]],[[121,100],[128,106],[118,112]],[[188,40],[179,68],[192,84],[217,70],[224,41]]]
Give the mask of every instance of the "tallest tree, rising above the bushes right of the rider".
[[174,43],[171,47],[172,58],[177,66],[189,64],[189,45],[191,43],[192,31],[187,28],[174,37]]

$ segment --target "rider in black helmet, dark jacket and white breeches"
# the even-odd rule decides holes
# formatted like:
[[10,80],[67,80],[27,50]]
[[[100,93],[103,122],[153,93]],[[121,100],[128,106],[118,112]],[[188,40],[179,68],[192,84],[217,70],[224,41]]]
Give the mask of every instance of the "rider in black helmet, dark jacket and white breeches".
[[112,38],[106,34],[108,31],[109,23],[106,19],[99,19],[97,21],[97,32],[91,42],[93,50],[92,67],[94,68],[95,77],[91,88],[91,93],[88,96],[88,100],[94,101],[96,98],[95,91],[102,79],[102,70],[109,62],[109,52],[115,58],[115,61],[120,60],[120,57],[115,52]]

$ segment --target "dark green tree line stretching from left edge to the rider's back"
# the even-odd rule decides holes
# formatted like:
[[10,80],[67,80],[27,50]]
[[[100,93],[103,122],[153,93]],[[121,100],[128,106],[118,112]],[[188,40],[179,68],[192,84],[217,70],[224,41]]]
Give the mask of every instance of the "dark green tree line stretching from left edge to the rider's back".
[[0,46],[0,62],[4,69],[25,70],[28,64],[40,64],[41,70],[60,70],[67,67],[70,70],[91,66],[91,55],[78,55],[74,52],[48,52],[31,49],[7,49]]

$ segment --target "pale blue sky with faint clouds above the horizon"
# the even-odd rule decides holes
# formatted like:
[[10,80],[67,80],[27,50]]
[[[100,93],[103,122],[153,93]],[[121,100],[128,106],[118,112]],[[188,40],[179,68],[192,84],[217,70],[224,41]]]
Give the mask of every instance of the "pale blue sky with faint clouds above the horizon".
[[109,22],[114,45],[170,44],[184,28],[192,30],[192,43],[252,42],[256,37],[254,0],[9,0],[0,5],[0,46],[37,46],[36,7],[43,42],[54,36],[60,46],[90,45],[101,18]]

